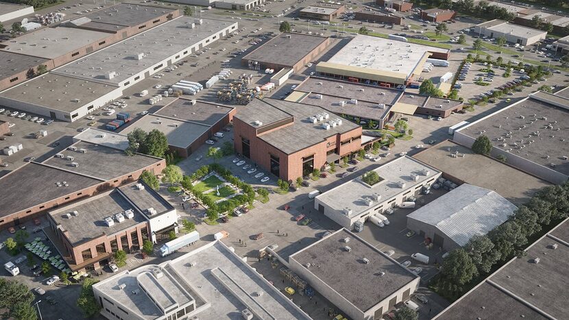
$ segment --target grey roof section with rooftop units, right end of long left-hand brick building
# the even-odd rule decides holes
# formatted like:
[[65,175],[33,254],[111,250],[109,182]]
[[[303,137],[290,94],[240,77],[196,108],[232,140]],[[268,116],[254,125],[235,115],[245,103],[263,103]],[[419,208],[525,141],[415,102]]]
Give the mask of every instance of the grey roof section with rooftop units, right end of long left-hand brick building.
[[[77,151],[64,149],[61,151],[64,158],[52,157],[43,163],[82,175],[97,177],[101,180],[112,180],[160,161],[158,158],[143,154],[127,156],[122,150],[84,141],[74,143],[73,146],[77,147]],[[87,152],[82,153],[80,149],[86,149]],[[73,156],[73,161],[67,160],[65,158],[67,156]],[[77,162],[79,167],[71,167],[71,162]]]

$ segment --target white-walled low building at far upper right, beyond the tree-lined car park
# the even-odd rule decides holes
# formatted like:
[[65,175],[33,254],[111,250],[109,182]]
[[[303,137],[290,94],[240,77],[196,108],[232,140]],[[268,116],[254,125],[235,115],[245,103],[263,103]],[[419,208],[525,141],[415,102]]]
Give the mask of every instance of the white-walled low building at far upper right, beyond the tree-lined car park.
[[533,45],[547,36],[545,31],[513,25],[502,20],[491,20],[475,25],[474,33],[489,38],[504,37],[507,42],[518,43],[523,46]]

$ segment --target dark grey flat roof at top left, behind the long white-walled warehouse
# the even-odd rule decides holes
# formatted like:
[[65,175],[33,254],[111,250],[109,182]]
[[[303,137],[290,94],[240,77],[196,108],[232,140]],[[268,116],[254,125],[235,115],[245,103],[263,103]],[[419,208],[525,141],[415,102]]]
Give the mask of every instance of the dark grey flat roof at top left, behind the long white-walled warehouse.
[[158,16],[163,16],[178,9],[158,8],[149,5],[119,3],[104,10],[87,14],[85,17],[96,23],[108,23],[110,25],[135,26],[150,22]]

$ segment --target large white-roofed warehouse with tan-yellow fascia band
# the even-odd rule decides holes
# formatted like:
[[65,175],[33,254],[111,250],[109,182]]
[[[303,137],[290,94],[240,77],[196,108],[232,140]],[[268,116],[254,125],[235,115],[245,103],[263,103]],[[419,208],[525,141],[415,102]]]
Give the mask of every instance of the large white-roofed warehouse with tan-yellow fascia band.
[[448,60],[449,49],[358,35],[327,62],[319,75],[385,87],[407,86],[420,76],[428,58]]

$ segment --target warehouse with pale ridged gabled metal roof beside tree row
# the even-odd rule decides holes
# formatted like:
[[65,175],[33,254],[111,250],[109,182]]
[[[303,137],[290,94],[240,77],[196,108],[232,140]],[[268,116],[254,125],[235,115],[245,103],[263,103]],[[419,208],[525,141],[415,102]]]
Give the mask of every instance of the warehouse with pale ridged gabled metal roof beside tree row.
[[517,209],[498,193],[462,184],[407,215],[407,228],[446,251],[485,235]]

